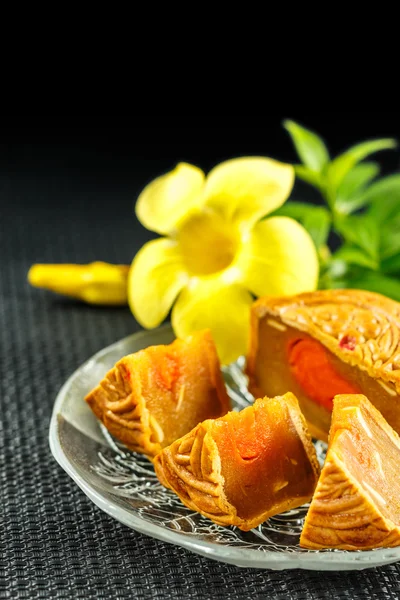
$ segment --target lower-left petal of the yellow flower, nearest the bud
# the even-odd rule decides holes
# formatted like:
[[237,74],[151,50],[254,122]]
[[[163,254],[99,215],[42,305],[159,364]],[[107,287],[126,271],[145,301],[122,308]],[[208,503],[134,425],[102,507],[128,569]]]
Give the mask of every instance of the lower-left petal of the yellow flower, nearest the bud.
[[188,276],[179,246],[166,238],[145,244],[136,254],[128,278],[131,311],[143,327],[157,327],[167,316]]

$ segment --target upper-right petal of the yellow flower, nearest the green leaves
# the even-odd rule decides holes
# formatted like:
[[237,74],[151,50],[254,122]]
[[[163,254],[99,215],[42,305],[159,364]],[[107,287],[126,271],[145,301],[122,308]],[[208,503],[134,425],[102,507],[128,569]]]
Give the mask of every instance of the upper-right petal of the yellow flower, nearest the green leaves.
[[242,229],[249,228],[285,202],[293,183],[292,165],[271,158],[235,158],[210,171],[204,201]]

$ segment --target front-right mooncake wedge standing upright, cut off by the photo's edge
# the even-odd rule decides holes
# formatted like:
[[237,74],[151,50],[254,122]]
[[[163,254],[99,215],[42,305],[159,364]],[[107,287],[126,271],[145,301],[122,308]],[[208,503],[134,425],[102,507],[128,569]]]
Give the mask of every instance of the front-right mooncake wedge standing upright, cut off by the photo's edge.
[[362,395],[336,396],[329,447],[308,511],[304,548],[400,545],[400,439]]

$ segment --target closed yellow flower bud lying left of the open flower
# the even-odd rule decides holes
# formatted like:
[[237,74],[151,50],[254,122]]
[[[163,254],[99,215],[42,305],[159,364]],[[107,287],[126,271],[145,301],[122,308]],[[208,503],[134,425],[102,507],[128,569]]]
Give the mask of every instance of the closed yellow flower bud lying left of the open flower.
[[78,298],[88,304],[127,304],[129,266],[93,262],[88,265],[32,265],[28,281],[34,287],[45,288]]

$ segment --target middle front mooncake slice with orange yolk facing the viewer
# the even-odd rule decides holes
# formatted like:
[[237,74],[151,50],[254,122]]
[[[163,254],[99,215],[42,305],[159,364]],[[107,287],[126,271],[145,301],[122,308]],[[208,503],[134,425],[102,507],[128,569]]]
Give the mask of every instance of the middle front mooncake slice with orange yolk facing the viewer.
[[243,531],[308,502],[319,474],[290,393],[200,423],[165,448],[154,467],[161,483],[191,510]]

